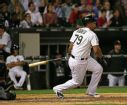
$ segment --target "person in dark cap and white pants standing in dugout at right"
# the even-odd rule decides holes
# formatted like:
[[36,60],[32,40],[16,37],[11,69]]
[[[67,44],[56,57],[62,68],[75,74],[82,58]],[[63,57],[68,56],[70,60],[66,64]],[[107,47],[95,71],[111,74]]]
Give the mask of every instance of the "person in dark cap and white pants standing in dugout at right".
[[[108,72],[111,73],[108,74],[107,78],[109,80],[110,87],[116,86],[117,84],[118,86],[124,86],[124,70],[126,69],[126,60],[123,56],[120,56],[122,54],[125,54],[121,47],[121,42],[119,40],[116,40],[114,42],[114,48],[109,52],[111,58],[108,59]],[[120,57],[113,57],[113,55]],[[121,72],[122,74],[119,74],[119,72]]]

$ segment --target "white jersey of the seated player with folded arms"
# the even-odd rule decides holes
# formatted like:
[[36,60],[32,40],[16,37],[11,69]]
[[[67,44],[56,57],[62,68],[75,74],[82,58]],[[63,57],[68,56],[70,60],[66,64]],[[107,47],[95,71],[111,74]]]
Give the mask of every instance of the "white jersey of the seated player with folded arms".
[[[24,61],[24,57],[22,55],[10,55],[9,57],[7,57],[6,59],[6,64],[9,64],[11,62],[17,62],[17,61]],[[15,66],[13,68],[10,68],[9,70],[22,70],[23,67],[22,66]]]

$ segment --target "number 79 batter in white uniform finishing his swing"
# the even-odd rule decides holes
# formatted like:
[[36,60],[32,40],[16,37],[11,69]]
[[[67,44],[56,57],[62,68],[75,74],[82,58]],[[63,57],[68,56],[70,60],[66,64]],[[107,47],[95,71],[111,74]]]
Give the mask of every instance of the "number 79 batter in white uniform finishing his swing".
[[90,56],[92,48],[97,59],[104,62],[98,38],[92,31],[96,28],[96,22],[92,15],[85,16],[82,19],[82,22],[84,24],[84,28],[79,28],[73,32],[68,48],[68,53],[70,54],[68,63],[71,69],[72,79],[68,80],[64,84],[53,87],[53,90],[58,98],[64,98],[64,90],[80,86],[87,70],[92,72],[92,77],[86,94],[92,97],[100,97],[100,95],[96,93],[96,89],[100,81],[103,68]]

